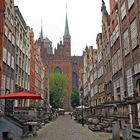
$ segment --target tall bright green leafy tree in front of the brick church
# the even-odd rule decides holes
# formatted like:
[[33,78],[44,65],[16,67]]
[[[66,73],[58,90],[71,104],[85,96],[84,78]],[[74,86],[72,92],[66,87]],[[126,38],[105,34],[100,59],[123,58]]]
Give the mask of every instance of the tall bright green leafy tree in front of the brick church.
[[60,72],[51,73],[49,76],[50,103],[53,108],[63,107],[63,97],[67,93],[68,78]]

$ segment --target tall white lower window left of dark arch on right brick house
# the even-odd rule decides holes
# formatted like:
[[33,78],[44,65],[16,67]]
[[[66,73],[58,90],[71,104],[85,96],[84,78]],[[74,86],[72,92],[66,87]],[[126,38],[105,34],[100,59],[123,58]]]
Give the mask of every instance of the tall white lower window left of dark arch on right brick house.
[[132,69],[128,69],[126,71],[127,76],[127,90],[128,90],[128,96],[133,95],[133,79],[132,79]]

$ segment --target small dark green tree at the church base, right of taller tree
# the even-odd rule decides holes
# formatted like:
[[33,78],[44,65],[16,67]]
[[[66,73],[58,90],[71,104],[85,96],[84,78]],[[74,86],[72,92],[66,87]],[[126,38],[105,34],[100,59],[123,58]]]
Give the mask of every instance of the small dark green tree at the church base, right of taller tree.
[[71,106],[76,108],[80,105],[80,97],[78,90],[74,89],[71,94]]

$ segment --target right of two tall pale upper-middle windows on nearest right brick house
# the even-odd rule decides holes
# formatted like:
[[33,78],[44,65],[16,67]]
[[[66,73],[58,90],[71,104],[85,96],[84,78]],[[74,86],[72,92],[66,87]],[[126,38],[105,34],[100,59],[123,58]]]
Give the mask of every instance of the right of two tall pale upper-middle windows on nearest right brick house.
[[138,35],[136,19],[131,23],[130,30],[131,30],[131,45],[132,49],[134,49],[137,46],[137,35]]

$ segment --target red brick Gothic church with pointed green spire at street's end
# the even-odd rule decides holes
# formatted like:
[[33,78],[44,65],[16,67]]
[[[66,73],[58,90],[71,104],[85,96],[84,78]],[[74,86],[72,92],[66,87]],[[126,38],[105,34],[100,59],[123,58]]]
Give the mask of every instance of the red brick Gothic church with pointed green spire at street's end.
[[[49,43],[46,44],[46,48],[49,48],[48,50],[50,51],[44,50],[45,40],[41,39],[41,36],[40,36],[40,41],[43,41],[43,42],[39,42],[39,44],[42,44],[41,55],[45,56],[42,57],[42,59],[45,65],[47,65],[47,67],[49,68],[49,73],[55,71],[61,71],[68,77],[67,95],[64,98],[63,103],[64,103],[64,109],[70,110],[71,109],[70,97],[71,97],[72,89],[78,89],[79,87],[79,83],[78,83],[79,71],[83,67],[83,57],[71,56],[71,35],[69,32],[67,15],[65,21],[65,31],[64,31],[63,41],[60,40],[60,42],[57,44],[57,48],[54,49],[54,53],[52,53],[51,41],[48,41]],[[47,61],[44,59],[46,59]]]

